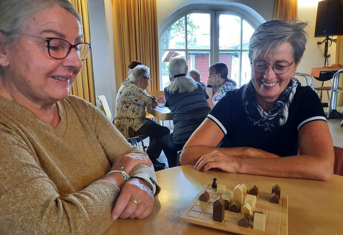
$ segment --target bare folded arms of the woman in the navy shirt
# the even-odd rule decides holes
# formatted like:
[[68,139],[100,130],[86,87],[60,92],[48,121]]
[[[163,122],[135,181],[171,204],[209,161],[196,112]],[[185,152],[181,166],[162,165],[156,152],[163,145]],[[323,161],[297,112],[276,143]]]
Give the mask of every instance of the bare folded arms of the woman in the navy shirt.
[[279,157],[249,147],[217,148],[224,134],[213,121],[206,119],[186,143],[180,163],[196,163],[194,168],[203,168],[204,171],[220,168],[231,173],[251,175],[331,179],[334,155],[327,123],[306,123],[300,128],[298,136],[299,156]]

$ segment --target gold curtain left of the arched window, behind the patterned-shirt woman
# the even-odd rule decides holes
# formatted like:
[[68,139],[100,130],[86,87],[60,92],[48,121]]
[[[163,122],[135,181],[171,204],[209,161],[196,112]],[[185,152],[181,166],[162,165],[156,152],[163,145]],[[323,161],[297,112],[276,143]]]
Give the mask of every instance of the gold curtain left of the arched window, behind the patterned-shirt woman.
[[148,91],[159,90],[156,0],[112,0],[117,89],[132,60],[150,67]]

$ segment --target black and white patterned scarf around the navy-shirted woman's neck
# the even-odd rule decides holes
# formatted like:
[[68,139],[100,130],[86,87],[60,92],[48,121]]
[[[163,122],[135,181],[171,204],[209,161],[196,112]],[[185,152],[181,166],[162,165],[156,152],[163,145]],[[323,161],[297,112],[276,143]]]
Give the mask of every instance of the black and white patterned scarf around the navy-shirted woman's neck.
[[271,131],[275,126],[282,126],[287,122],[289,106],[295,95],[299,81],[291,77],[286,89],[280,94],[270,111],[264,112],[256,100],[255,87],[250,80],[243,87],[242,100],[248,120],[255,126],[262,126],[265,131]]

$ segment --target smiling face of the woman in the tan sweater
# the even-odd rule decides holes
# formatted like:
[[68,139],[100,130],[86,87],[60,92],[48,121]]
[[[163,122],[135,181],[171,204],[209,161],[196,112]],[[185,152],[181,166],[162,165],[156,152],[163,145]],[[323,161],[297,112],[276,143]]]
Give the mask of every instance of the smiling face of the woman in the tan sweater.
[[[58,5],[33,15],[22,33],[62,38],[72,44],[82,38],[80,22]],[[75,49],[66,58],[55,59],[49,56],[44,39],[23,34],[1,53],[5,90],[14,100],[24,99],[26,103],[50,105],[66,98],[82,67]]]

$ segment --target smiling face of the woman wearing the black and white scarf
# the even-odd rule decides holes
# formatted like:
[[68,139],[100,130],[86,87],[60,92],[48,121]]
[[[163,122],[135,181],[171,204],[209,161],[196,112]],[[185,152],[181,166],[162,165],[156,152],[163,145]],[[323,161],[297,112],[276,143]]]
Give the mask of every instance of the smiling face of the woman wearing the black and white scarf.
[[[261,74],[251,71],[251,80],[256,90],[257,101],[265,111],[270,109],[272,104],[279,98],[283,90],[285,90],[289,81],[291,80],[292,74],[295,72],[300,63],[300,60],[298,63],[294,62],[292,54],[292,45],[288,42],[285,42],[275,50],[270,49],[266,55],[264,55],[262,52],[253,59],[253,61],[262,60],[269,64],[267,70]],[[289,69],[286,73],[276,74],[273,71],[273,65],[271,64],[274,64],[277,61],[287,61],[292,65],[289,66]]]

